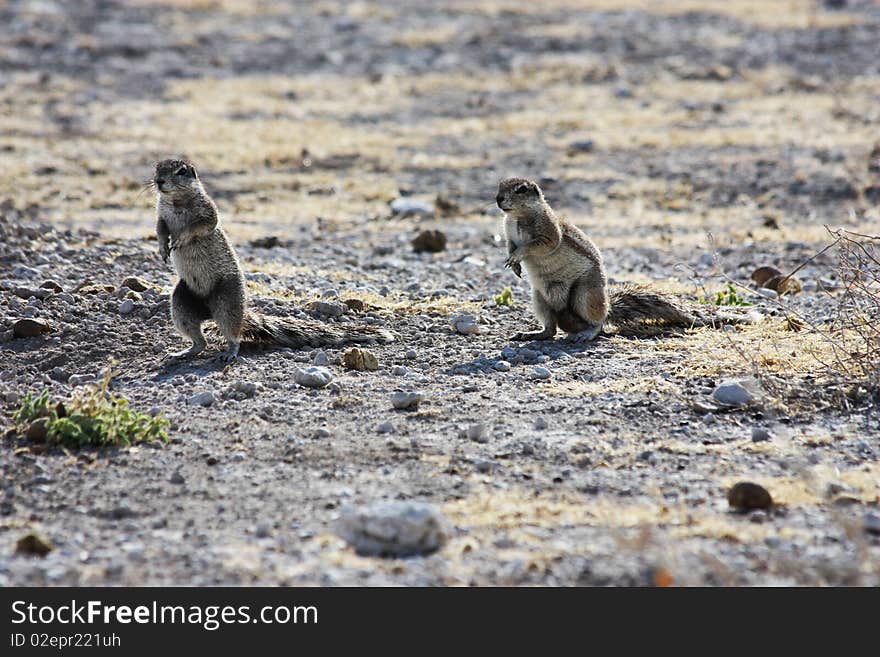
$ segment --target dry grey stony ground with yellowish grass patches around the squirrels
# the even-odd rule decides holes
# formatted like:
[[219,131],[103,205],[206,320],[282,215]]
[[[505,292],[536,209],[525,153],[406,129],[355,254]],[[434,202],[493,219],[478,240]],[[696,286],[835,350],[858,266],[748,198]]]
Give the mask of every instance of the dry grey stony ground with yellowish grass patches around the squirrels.
[[[0,585],[880,584],[875,409],[784,321],[833,315],[835,254],[795,297],[746,289],[819,251],[826,224],[876,231],[876,2],[7,0],[0,24],[0,329],[53,326],[4,333],[0,419],[113,358],[114,393],[172,422],[166,446],[4,438]],[[325,321],[395,331],[378,371],[328,349],[334,384],[309,390],[308,350],[160,362],[185,345],[144,184],[173,155],[217,200],[254,304],[363,300]],[[492,207],[508,175],[540,180],[615,281],[695,303],[731,280],[766,320],[510,345],[532,319]],[[400,197],[435,212],[393,216]],[[424,228],[448,248],[414,253]],[[161,291],[128,314],[75,292],[131,275]],[[47,279],[64,292],[12,291]],[[479,335],[450,328],[463,311]],[[773,385],[713,408],[751,376]],[[395,411],[398,389],[425,400]],[[188,403],[204,391],[210,407]],[[485,442],[461,436],[480,422]],[[729,510],[738,480],[776,508]],[[345,505],[391,499],[435,505],[450,540],[381,559],[334,534]],[[30,532],[54,550],[17,553]]]

